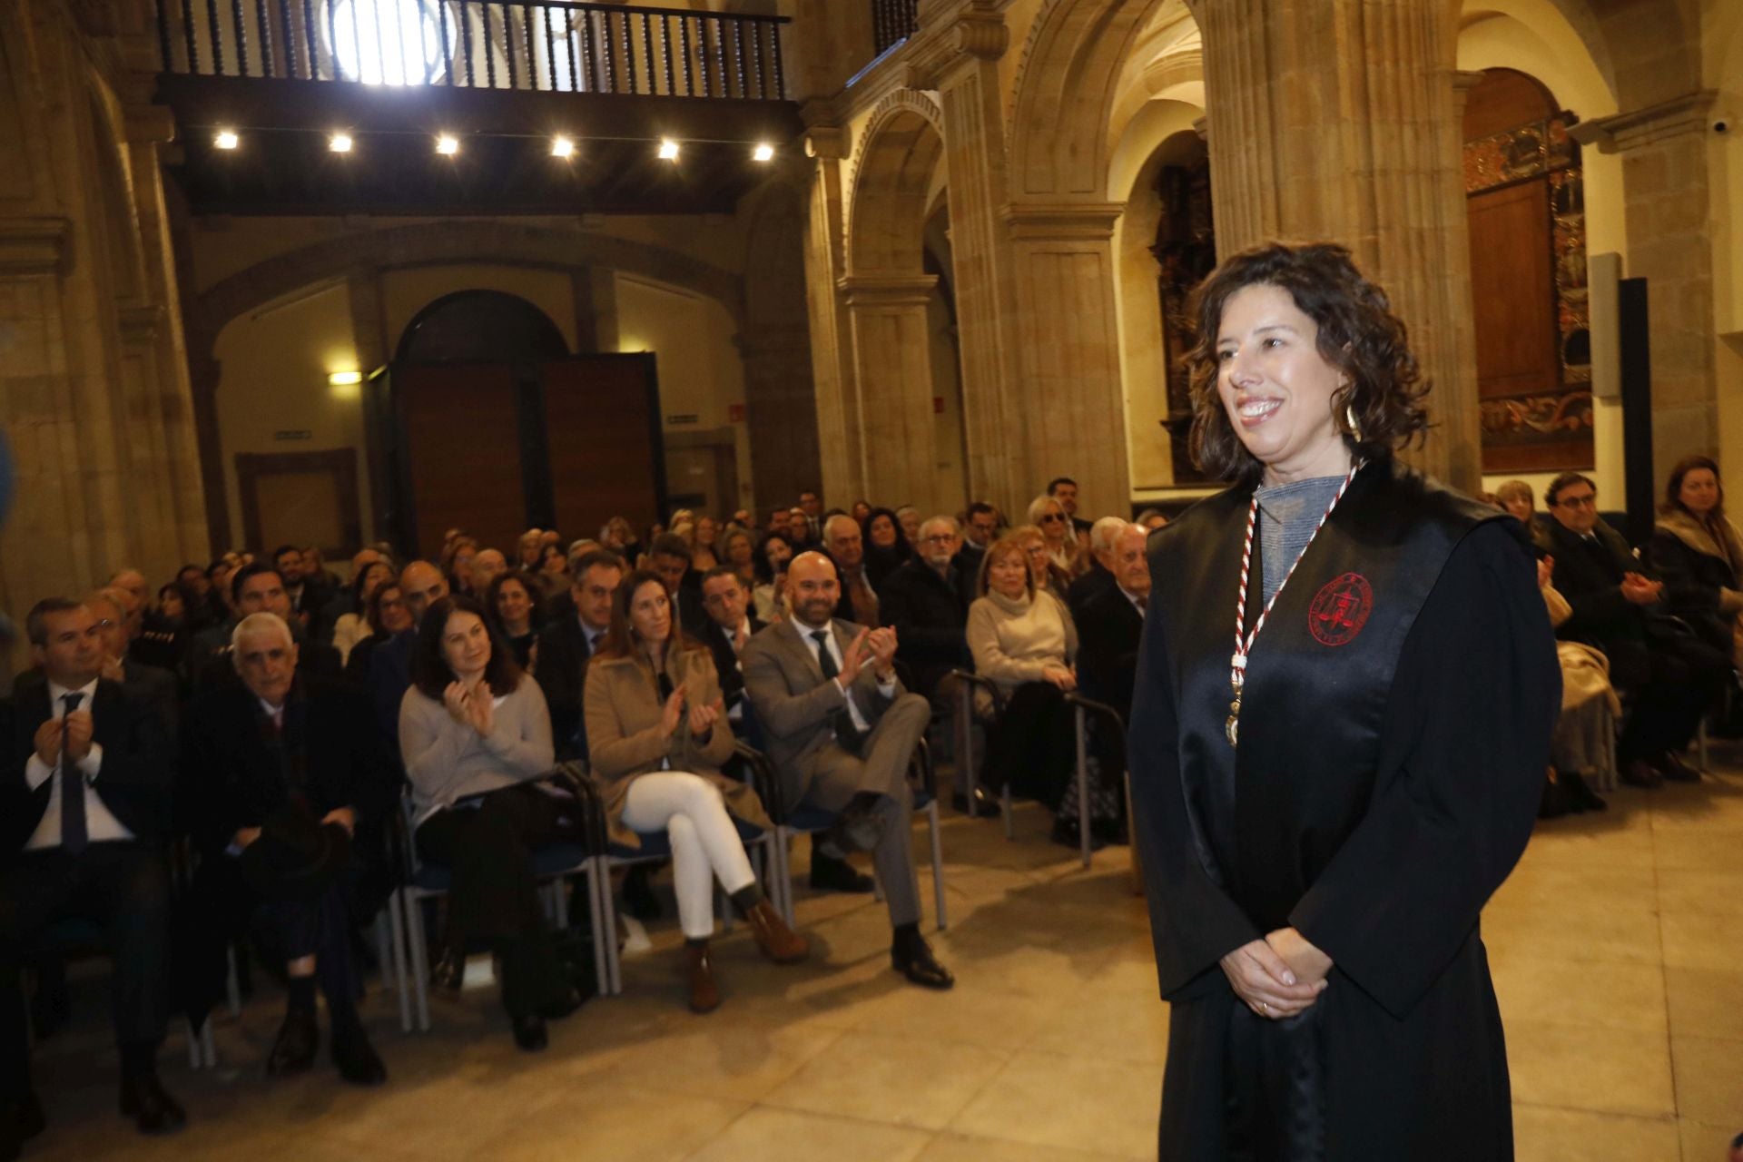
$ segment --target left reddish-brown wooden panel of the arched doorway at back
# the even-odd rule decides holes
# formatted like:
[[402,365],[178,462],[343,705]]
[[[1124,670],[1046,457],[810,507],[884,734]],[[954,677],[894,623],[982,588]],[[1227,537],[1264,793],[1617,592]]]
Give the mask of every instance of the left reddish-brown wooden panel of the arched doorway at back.
[[417,512],[417,549],[441,549],[443,530],[464,528],[481,545],[511,552],[526,528],[519,411],[507,366],[396,368]]

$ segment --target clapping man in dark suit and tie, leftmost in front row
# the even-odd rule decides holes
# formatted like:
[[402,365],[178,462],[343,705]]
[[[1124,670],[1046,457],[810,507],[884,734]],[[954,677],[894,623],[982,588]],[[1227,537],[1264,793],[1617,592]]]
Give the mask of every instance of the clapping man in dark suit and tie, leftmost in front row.
[[155,1064],[169,1019],[167,744],[150,707],[101,678],[87,606],[38,601],[26,632],[45,683],[10,706],[0,770],[0,1157],[44,1129],[19,958],[68,918],[103,925],[113,951],[122,1113],[146,1134],[187,1122]]

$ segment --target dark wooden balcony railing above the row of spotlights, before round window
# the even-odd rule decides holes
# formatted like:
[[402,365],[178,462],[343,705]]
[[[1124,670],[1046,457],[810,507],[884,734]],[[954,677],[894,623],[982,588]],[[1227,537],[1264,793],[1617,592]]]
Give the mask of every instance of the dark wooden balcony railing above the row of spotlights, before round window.
[[784,99],[784,23],[570,0],[157,0],[166,73],[751,101]]

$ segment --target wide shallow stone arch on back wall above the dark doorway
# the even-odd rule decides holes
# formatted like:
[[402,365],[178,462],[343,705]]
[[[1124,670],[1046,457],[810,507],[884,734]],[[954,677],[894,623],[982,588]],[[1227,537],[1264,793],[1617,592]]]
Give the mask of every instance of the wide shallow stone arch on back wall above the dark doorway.
[[193,314],[200,329],[216,336],[230,319],[315,282],[359,270],[469,261],[638,274],[713,298],[744,324],[744,280],[736,274],[647,242],[507,221],[431,221],[315,242],[213,284],[195,300]]

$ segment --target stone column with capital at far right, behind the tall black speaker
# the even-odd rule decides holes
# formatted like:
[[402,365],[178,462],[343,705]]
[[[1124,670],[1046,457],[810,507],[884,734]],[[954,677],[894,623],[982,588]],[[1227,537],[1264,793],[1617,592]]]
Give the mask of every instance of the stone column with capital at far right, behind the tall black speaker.
[[1623,157],[1626,275],[1647,280],[1659,477],[1682,456],[1719,451],[1706,146],[1717,96],[1687,92],[1572,129],[1576,141]]

